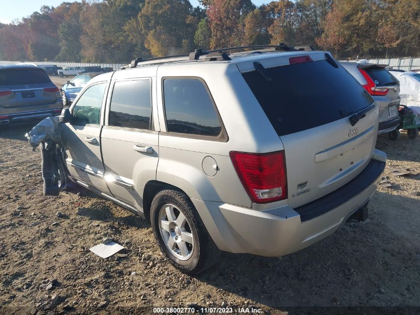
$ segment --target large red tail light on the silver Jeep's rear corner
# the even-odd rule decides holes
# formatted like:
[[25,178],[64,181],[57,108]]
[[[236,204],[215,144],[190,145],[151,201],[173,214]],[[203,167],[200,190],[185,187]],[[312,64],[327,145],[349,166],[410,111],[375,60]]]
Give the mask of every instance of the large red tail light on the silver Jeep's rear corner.
[[253,203],[265,204],[287,198],[284,151],[266,154],[231,152],[230,156]]

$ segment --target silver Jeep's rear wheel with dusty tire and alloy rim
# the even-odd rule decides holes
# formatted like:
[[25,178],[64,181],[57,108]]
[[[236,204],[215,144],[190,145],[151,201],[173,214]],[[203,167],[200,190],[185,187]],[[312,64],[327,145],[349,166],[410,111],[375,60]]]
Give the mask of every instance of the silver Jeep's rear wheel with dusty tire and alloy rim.
[[220,250],[188,196],[163,190],[153,199],[150,215],[162,254],[175,268],[197,275],[217,262]]

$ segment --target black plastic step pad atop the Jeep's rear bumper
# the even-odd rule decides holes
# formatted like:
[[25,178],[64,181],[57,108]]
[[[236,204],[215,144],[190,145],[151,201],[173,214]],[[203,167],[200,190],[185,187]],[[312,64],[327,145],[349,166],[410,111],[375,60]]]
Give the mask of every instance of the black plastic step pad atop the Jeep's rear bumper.
[[336,209],[368,188],[384,171],[385,162],[371,160],[366,168],[346,185],[309,204],[295,208],[301,222],[306,222]]

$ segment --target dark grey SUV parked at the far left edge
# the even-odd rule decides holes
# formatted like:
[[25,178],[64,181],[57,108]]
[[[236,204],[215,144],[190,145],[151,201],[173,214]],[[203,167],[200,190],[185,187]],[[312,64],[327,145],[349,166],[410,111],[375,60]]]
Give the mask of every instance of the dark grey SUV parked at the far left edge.
[[41,68],[0,65],[0,125],[59,115],[60,90]]

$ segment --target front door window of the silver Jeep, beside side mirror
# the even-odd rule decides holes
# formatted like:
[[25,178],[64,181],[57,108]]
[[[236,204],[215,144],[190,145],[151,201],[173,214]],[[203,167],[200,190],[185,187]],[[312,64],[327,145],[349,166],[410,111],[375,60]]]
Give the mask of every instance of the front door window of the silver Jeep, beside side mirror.
[[73,108],[74,124],[99,124],[100,108],[106,83],[95,84],[80,97]]

